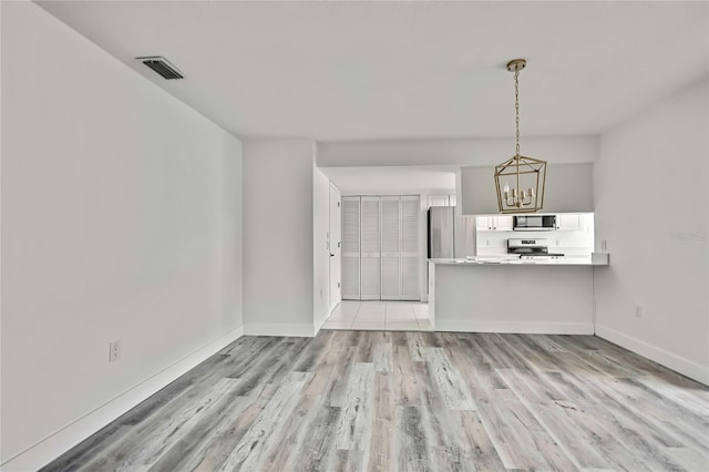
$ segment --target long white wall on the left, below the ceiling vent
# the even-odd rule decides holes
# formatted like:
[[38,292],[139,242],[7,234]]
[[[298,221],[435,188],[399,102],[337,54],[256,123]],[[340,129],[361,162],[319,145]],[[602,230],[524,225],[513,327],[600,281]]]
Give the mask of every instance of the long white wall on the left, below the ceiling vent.
[[2,99],[7,461],[238,331],[242,145],[31,2]]

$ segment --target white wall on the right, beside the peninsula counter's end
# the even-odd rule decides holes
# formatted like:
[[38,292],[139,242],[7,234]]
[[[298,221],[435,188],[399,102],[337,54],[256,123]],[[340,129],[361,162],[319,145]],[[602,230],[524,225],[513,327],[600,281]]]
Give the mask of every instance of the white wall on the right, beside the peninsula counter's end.
[[705,81],[605,133],[595,172],[597,334],[705,383],[708,103]]

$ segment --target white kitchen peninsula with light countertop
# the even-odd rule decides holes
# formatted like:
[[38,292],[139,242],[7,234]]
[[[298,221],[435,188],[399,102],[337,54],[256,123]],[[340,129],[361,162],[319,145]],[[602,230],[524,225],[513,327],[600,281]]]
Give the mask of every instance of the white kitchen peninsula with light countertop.
[[607,254],[429,259],[436,331],[593,335],[593,275]]

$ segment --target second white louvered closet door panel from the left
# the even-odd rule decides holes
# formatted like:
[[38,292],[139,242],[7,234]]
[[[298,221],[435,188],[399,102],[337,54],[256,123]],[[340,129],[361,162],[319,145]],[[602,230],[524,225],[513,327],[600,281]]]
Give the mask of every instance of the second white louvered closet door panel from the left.
[[361,204],[361,285],[360,299],[380,299],[380,198],[362,197]]

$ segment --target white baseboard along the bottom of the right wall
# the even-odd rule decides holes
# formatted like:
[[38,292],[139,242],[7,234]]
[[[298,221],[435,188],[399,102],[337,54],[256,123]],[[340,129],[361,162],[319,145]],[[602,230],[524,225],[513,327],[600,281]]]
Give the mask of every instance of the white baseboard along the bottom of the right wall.
[[707,366],[685,359],[684,357],[677,356],[668,350],[658,348],[657,346],[653,346],[606,326],[596,326],[596,336],[631,350],[633,352],[662,365],[668,369],[672,369],[682,376],[687,376],[690,379],[709,386],[709,367]]

